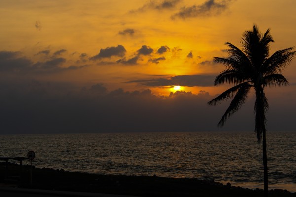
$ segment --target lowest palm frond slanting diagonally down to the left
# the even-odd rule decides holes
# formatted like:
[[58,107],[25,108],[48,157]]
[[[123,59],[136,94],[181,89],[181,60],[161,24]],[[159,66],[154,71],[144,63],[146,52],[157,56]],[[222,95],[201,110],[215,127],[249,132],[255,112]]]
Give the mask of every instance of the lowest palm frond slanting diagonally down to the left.
[[250,91],[250,87],[251,85],[249,85],[248,83],[244,83],[244,85],[242,85],[239,88],[234,98],[232,99],[229,107],[227,108],[226,112],[219,121],[218,127],[222,127],[225,124],[226,120],[228,120],[231,117],[231,115],[235,114],[246,102],[248,93]]

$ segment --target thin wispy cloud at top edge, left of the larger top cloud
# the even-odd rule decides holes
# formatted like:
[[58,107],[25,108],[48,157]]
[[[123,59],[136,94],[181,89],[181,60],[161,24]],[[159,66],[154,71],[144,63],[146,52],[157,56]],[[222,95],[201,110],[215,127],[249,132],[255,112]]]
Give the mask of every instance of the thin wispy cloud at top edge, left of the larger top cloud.
[[162,1],[150,0],[148,3],[144,4],[142,7],[138,8],[137,10],[131,10],[130,13],[143,12],[149,9],[154,9],[154,10],[172,9],[172,8],[175,8],[176,5],[181,1],[182,0],[162,0]]

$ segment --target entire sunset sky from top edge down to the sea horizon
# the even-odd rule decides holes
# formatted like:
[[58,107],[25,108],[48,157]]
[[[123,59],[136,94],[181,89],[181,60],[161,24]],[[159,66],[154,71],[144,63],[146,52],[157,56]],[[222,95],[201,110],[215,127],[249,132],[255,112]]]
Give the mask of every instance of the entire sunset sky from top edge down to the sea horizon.
[[[254,91],[223,128],[207,102],[244,31],[296,46],[295,0],[1,0],[0,134],[254,131]],[[268,131],[296,131],[288,87],[266,90]]]

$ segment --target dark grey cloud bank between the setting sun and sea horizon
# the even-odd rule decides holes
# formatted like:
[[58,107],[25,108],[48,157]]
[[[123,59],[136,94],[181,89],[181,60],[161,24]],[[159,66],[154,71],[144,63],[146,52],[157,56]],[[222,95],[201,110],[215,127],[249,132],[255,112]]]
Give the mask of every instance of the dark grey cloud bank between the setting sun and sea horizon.
[[[156,96],[149,89],[108,91],[103,84],[77,90],[71,84],[0,80],[0,133],[253,131],[253,99],[224,128],[217,122],[226,104],[209,107],[207,92]],[[271,106],[274,104],[270,102]],[[283,104],[284,105],[284,104]],[[291,129],[286,105],[270,110],[269,130]],[[295,110],[293,106],[290,111]],[[285,111],[286,110],[286,111]],[[289,111],[289,110],[288,110]],[[284,122],[285,121],[285,122]],[[286,123],[285,127],[283,123]],[[280,127],[280,128],[279,128]]]

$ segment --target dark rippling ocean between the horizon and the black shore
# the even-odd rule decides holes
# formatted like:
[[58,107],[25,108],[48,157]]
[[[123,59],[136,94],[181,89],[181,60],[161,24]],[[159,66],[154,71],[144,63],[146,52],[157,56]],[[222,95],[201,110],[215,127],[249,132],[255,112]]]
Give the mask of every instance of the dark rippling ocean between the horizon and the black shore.
[[[38,168],[263,188],[262,144],[252,131],[0,135],[0,157],[30,150]],[[267,157],[269,188],[296,192],[296,132],[267,132]]]

